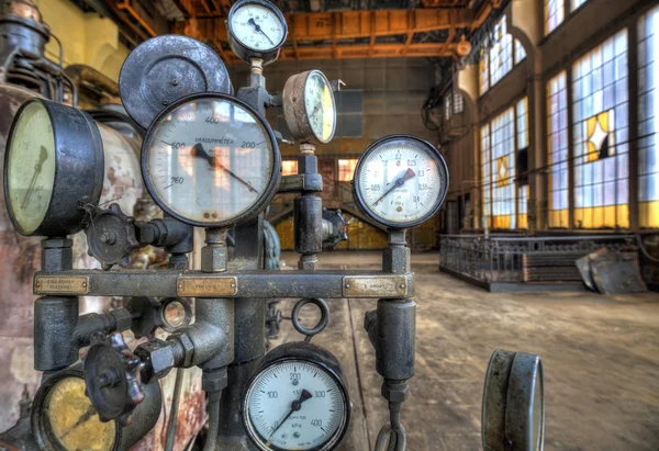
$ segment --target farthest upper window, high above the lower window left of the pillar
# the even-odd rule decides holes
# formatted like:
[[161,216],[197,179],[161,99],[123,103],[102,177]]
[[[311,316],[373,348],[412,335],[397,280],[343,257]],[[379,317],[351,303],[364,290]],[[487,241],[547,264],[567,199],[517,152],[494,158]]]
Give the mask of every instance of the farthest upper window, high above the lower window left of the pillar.
[[518,40],[507,32],[506,16],[494,24],[494,32],[489,36],[481,49],[480,93],[484,94],[491,87],[505,77],[513,66],[526,58],[526,50]]

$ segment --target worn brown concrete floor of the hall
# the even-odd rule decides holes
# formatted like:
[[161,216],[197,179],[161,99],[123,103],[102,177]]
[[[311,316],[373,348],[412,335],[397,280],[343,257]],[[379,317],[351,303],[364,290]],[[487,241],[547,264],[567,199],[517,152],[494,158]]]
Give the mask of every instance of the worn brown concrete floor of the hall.
[[[283,259],[295,266],[294,255]],[[379,261],[378,252],[321,257],[323,268],[376,268]],[[546,450],[659,450],[658,294],[488,293],[439,273],[437,261],[435,253],[413,256],[416,375],[402,411],[409,450],[481,449],[483,377],[498,348],[544,359]],[[282,303],[284,315],[292,304]],[[314,338],[348,375],[354,407],[343,450],[371,449],[387,421],[361,326],[375,306],[375,300],[332,301],[331,324]],[[278,342],[299,339],[286,322]]]

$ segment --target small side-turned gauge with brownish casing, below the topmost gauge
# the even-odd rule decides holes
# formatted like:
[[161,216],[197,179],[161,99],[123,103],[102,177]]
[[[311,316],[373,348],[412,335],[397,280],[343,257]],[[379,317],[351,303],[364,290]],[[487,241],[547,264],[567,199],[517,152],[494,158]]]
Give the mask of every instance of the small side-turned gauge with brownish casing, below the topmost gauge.
[[320,70],[292,76],[283,87],[283,116],[295,139],[326,144],[336,131],[336,103]]

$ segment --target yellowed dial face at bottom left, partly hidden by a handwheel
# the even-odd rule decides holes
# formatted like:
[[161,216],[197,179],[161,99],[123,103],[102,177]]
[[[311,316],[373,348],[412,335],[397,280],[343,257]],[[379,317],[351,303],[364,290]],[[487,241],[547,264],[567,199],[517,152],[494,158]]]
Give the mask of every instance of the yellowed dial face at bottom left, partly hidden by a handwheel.
[[48,441],[55,441],[62,449],[114,449],[116,425],[99,419],[89,397],[85,395],[85,380],[81,377],[58,381],[46,396],[42,415]]

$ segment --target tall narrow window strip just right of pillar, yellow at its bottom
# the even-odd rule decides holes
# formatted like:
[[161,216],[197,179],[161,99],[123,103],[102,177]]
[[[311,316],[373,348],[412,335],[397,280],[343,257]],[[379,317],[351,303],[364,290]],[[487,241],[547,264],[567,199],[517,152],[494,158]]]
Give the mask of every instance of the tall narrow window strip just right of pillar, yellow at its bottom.
[[549,150],[549,227],[569,227],[568,203],[568,91],[567,75],[547,83]]

